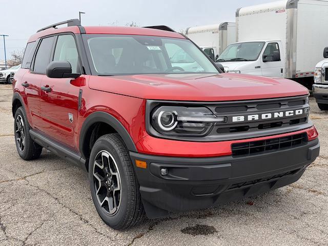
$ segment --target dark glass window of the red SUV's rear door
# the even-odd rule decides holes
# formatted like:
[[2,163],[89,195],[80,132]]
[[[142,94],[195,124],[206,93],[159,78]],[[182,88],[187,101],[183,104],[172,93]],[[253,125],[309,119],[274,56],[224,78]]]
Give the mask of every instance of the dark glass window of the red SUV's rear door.
[[33,72],[46,73],[46,68],[50,63],[54,37],[46,37],[41,40],[41,44],[36,52]]

